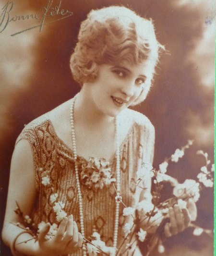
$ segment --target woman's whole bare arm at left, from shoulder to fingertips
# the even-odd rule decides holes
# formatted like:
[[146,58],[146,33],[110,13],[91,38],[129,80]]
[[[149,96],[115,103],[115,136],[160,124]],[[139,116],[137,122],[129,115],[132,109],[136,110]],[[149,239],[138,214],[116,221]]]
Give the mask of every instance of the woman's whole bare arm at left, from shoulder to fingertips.
[[[27,140],[21,140],[15,146],[12,155],[7,207],[2,230],[4,243],[11,247],[13,255],[57,256],[70,254],[81,248],[83,238],[78,232],[72,215],[60,222],[58,231],[51,240],[46,239],[50,228],[49,224],[40,231],[37,242],[32,239],[30,233],[23,232],[23,229],[12,224],[21,221],[14,212],[17,207],[16,202],[24,215],[30,216],[35,199],[36,187],[32,150]],[[29,239],[32,240],[22,243]]]

